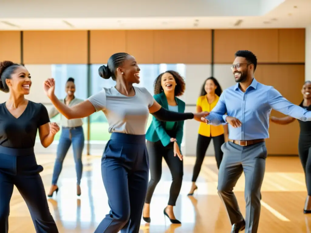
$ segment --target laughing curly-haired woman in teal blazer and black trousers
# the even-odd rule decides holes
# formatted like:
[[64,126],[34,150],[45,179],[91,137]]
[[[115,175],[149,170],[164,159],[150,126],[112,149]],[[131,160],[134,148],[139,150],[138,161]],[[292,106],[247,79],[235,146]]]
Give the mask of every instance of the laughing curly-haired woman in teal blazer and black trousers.
[[[155,80],[155,100],[164,108],[175,112],[185,111],[185,102],[176,98],[185,90],[185,82],[176,71],[166,71]],[[147,133],[147,150],[151,179],[148,184],[144,205],[143,219],[150,222],[150,202],[156,185],[162,174],[162,157],[165,159],[172,174],[172,184],[169,191],[169,202],[163,213],[172,223],[180,224],[175,218],[173,207],[176,204],[183,180],[183,156],[180,145],[183,139],[183,121],[164,122],[152,117]]]

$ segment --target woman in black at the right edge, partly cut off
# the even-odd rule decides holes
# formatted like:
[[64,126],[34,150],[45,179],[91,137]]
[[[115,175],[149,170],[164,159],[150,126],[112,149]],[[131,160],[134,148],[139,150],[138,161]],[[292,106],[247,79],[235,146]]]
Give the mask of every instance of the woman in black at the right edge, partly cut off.
[[[306,81],[302,87],[303,101],[300,107],[311,111],[311,81]],[[270,117],[270,120],[280,125],[287,125],[295,121],[295,118],[287,116],[283,118]],[[300,121],[300,135],[298,141],[299,158],[304,169],[308,196],[304,205],[304,213],[311,213],[311,122]]]

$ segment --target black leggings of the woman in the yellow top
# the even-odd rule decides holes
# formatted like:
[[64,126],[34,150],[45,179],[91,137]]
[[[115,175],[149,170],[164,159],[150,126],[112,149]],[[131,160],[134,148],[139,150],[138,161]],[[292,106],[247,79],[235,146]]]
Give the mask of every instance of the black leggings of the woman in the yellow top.
[[223,153],[221,151],[221,145],[225,143],[225,136],[222,134],[216,137],[206,137],[206,136],[199,134],[197,138],[197,159],[195,161],[195,165],[193,168],[192,182],[197,181],[197,177],[199,176],[199,173],[201,171],[201,166],[202,166],[202,163],[205,157],[205,153],[206,153],[208,145],[211,142],[211,139],[213,139],[214,149],[215,149],[215,158],[217,162],[217,167],[219,169],[220,162],[223,156]]

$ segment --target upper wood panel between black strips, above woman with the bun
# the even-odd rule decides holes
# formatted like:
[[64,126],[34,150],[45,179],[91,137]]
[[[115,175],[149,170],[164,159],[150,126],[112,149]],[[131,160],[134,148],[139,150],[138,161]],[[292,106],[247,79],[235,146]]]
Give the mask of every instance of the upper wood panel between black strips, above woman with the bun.
[[211,30],[91,31],[91,63],[113,53],[132,54],[140,64],[211,63]]

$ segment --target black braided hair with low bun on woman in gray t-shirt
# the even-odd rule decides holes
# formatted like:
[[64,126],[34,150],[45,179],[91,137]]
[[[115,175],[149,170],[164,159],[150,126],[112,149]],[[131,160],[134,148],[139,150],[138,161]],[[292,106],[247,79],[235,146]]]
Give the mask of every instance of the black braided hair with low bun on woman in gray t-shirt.
[[116,80],[115,72],[118,67],[122,65],[128,53],[115,53],[111,57],[109,57],[107,66],[100,66],[98,69],[98,73],[100,77],[104,79],[109,79],[112,77],[112,80]]

